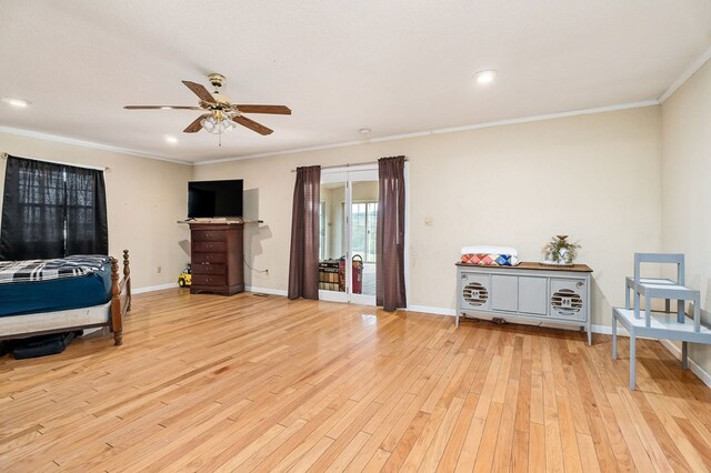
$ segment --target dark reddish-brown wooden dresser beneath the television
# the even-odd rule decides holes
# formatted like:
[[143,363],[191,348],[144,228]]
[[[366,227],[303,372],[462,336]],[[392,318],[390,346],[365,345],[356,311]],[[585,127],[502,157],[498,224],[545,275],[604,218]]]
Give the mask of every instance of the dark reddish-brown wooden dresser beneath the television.
[[243,223],[191,223],[190,293],[231,295],[244,291]]

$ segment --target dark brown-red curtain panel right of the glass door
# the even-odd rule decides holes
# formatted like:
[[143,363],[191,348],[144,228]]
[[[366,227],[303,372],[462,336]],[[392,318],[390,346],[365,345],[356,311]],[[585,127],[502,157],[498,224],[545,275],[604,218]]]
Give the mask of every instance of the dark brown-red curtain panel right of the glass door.
[[408,305],[404,288],[404,157],[378,160],[375,303],[385,311]]

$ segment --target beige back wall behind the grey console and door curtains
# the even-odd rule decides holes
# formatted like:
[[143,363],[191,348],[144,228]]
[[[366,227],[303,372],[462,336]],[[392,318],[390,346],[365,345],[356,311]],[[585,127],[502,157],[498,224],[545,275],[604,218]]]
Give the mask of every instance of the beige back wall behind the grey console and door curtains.
[[609,325],[632,254],[661,249],[660,135],[660,110],[649,107],[196,165],[193,178],[242,178],[258,191],[264,224],[248,227],[246,255],[269,274],[248,273],[247,285],[286,290],[290,170],[405,154],[410,304],[454,309],[462,245],[512,245],[538,261],[551,235],[567,233],[582,244],[579,261],[595,271],[593,323]]

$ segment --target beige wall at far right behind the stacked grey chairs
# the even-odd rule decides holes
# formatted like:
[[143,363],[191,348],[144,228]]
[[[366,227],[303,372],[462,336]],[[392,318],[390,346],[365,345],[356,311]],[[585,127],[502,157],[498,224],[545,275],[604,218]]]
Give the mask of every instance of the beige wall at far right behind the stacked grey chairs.
[[[662,249],[685,254],[687,284],[701,291],[702,321],[711,301],[711,61],[662,105]],[[711,372],[711,346],[690,355]]]

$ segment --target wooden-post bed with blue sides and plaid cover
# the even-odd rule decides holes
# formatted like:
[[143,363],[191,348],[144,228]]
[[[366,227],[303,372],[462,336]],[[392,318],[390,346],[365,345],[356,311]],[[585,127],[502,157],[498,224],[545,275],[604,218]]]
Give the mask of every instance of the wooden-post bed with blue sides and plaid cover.
[[[46,273],[53,271],[44,269]],[[0,341],[106,326],[113,332],[114,344],[120,345],[123,318],[131,310],[129,251],[123,250],[122,276],[112,256],[103,256],[102,264],[91,268],[70,260],[56,272],[59,275],[40,278],[24,271],[17,281],[8,281],[10,271],[4,273],[0,283]]]

